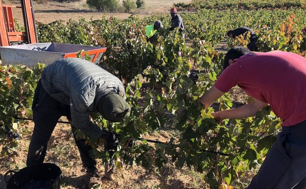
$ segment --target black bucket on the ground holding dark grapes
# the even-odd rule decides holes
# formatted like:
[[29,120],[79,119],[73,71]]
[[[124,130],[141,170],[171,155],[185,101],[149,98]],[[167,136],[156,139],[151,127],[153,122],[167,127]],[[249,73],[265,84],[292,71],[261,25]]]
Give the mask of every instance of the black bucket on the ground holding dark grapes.
[[[14,173],[8,180],[7,176]],[[39,163],[25,167],[19,171],[8,171],[4,179],[6,189],[23,189],[29,182],[48,182],[46,189],[60,189],[60,168],[52,163]]]

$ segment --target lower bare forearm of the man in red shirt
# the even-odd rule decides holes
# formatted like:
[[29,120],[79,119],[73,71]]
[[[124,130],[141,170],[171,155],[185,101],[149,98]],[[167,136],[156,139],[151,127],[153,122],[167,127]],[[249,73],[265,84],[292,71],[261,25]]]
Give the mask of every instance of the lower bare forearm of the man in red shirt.
[[212,113],[216,119],[242,119],[256,115],[257,111],[268,106],[267,103],[256,100],[240,108],[228,109]]

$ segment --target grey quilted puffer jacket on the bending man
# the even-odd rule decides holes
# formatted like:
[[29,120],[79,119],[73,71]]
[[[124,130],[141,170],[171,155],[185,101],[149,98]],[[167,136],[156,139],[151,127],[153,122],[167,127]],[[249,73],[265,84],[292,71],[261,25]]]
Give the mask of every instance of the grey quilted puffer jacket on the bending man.
[[122,82],[96,64],[79,58],[60,59],[43,71],[41,82],[55,100],[70,105],[73,125],[85,134],[98,137],[102,130],[89,120],[98,102],[109,92],[126,98]]

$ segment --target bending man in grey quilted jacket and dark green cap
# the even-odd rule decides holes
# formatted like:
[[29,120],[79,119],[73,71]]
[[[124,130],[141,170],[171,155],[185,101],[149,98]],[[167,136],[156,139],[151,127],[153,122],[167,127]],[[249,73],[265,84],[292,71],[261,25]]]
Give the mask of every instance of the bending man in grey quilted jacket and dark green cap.
[[[35,125],[26,165],[44,162],[47,143],[61,116],[67,117],[73,131],[80,130],[106,141],[105,150],[115,149],[118,145],[116,135],[102,131],[92,123],[90,112],[100,112],[106,120],[119,122],[130,111],[125,98],[122,82],[92,62],[65,58],[48,65],[33,98]],[[74,138],[82,163],[87,168],[89,185],[95,184],[97,180],[94,178],[100,179],[100,176],[97,175],[96,161],[89,155],[92,147],[85,143],[85,139],[76,138],[75,135]]]

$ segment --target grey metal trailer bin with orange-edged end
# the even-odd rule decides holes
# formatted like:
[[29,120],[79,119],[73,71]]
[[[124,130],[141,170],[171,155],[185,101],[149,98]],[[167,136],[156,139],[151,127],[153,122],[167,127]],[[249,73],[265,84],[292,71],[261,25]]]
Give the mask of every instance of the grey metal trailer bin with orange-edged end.
[[[37,63],[51,64],[55,60],[67,57],[77,57],[77,53],[84,50],[91,57],[91,62],[98,63],[104,47],[72,45],[63,43],[36,43],[0,47],[0,59],[3,64],[23,64],[34,67]],[[84,58],[84,53],[81,54]]]

